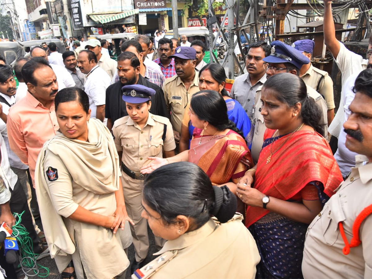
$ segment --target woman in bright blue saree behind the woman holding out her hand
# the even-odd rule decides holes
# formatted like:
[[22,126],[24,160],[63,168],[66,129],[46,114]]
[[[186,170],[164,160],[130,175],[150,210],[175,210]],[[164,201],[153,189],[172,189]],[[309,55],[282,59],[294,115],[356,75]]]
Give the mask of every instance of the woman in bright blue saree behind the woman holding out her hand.
[[[225,69],[216,63],[205,65],[199,72],[199,89],[214,90],[219,92],[224,98],[227,106],[228,118],[235,123],[236,127],[243,133],[247,146],[250,149],[253,138],[254,128],[246,111],[237,100],[232,99],[225,89],[226,74]],[[185,112],[189,111],[189,105],[186,106]],[[180,152],[189,149],[190,140],[194,133],[200,134],[198,128],[195,128],[190,121],[188,113],[183,115]]]

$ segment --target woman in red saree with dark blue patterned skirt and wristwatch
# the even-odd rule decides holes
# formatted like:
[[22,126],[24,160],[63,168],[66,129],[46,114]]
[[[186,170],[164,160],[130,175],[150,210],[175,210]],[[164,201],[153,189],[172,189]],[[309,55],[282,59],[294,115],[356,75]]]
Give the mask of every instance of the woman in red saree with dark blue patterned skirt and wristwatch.
[[[270,77],[261,100],[267,130],[259,161],[238,183],[261,262],[259,278],[302,278],[308,224],[342,181],[328,142],[317,132],[320,111],[294,74]],[[253,183],[254,182],[254,183]]]

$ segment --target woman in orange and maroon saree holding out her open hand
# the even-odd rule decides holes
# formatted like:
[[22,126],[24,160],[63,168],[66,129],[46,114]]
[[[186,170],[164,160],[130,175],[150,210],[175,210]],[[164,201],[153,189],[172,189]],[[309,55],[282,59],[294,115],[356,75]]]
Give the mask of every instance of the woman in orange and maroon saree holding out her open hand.
[[228,119],[221,94],[203,90],[192,96],[189,112],[195,130],[190,150],[170,158],[154,158],[142,173],[151,173],[165,164],[189,161],[197,164],[213,185],[227,185],[235,193],[236,183],[253,166],[252,157],[241,132]]

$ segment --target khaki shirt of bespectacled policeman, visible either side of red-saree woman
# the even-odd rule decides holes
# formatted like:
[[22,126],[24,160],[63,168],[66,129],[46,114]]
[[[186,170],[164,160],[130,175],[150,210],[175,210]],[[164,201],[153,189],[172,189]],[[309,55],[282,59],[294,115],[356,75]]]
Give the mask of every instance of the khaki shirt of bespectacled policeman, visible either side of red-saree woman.
[[[255,164],[258,162],[258,158],[260,156],[260,152],[262,149],[263,144],[263,134],[266,130],[266,126],[263,122],[263,117],[261,115],[261,90],[262,87],[259,87],[256,91],[256,97],[255,97],[255,105],[254,105],[254,113],[253,113],[253,124],[254,124],[254,134],[253,134],[253,141],[252,141],[252,147],[251,147],[251,154],[252,158]],[[328,138],[328,124],[327,124],[327,105],[325,104],[325,100],[323,97],[316,92],[314,89],[312,89],[310,86],[307,87],[307,93],[310,97],[312,97],[315,100],[315,103],[317,104],[318,108],[320,108],[322,117],[319,120],[320,124],[323,126],[323,134],[322,136],[324,138]]]

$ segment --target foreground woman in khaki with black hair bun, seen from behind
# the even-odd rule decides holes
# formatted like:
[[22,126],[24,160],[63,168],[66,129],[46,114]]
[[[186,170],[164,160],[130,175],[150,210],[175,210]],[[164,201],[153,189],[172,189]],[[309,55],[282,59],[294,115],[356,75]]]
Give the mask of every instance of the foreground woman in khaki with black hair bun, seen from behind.
[[235,214],[235,195],[212,186],[200,167],[179,162],[155,170],[145,178],[142,205],[154,235],[168,241],[132,278],[255,277],[260,257]]

